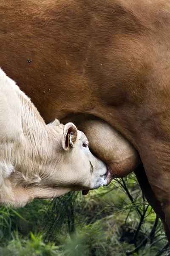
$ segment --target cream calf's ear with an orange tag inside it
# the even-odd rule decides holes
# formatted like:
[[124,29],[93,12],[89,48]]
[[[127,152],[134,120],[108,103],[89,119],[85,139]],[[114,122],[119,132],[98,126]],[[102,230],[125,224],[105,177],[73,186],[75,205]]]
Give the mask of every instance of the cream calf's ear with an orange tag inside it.
[[64,150],[68,150],[69,148],[74,147],[76,139],[77,128],[73,123],[69,122],[63,128],[62,147]]

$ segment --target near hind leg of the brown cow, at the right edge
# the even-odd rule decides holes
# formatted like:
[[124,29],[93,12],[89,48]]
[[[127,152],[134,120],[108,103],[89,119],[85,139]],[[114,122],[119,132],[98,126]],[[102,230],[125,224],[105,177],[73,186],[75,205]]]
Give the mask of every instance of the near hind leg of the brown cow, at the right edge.
[[[152,137],[141,153],[147,179],[164,212],[165,233],[170,242],[170,145],[167,140]],[[144,150],[145,149],[145,150]]]

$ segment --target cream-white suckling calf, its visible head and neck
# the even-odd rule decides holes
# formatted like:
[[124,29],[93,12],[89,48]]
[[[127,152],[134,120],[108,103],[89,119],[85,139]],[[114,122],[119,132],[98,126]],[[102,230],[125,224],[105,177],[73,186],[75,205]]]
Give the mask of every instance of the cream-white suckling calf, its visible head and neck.
[[24,206],[34,198],[107,185],[105,164],[73,123],[46,125],[31,100],[0,69],[0,203]]

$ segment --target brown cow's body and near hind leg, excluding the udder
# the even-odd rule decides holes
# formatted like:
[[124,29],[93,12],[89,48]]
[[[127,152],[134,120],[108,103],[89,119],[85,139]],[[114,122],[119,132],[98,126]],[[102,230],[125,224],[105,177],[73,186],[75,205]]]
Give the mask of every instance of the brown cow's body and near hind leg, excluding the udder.
[[170,0],[0,3],[0,66],[46,122],[91,114],[135,146],[170,241]]

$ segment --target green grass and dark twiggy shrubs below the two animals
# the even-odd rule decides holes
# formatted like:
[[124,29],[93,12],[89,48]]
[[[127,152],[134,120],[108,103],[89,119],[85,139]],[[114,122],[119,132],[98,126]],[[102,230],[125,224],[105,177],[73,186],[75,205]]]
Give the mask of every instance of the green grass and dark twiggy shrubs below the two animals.
[[134,175],[87,196],[1,206],[0,242],[0,256],[170,255],[161,221]]

